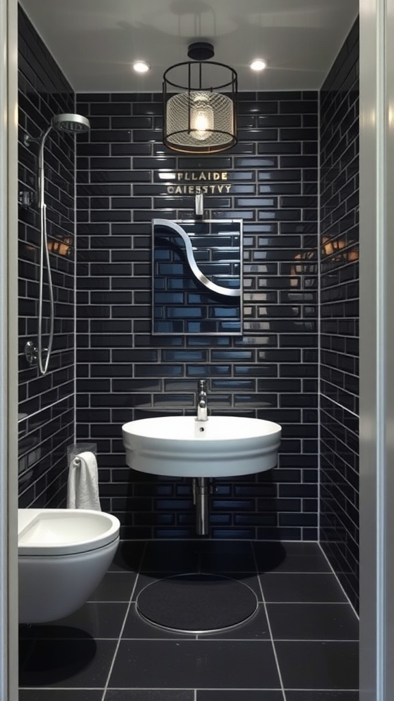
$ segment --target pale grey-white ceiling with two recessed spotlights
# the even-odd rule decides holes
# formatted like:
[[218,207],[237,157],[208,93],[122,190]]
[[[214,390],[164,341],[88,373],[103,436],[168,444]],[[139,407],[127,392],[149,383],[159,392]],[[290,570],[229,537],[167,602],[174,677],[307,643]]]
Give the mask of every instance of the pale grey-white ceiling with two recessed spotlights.
[[[239,90],[321,87],[358,0],[20,0],[77,93],[157,92],[196,39],[238,72]],[[264,57],[268,68],[248,64]],[[143,58],[151,71],[130,64]]]

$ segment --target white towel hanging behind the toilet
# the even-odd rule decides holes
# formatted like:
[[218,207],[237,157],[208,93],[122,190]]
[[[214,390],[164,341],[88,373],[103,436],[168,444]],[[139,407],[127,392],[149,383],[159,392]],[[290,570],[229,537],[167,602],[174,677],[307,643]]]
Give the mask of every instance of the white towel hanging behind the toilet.
[[79,453],[69,465],[67,509],[101,511],[97,461],[90,451]]

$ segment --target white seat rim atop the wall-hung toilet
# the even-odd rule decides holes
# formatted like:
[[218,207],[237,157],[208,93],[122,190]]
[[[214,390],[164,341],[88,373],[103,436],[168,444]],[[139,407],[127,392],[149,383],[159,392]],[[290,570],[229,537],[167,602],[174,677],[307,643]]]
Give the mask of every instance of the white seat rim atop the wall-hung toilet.
[[116,517],[87,509],[18,509],[18,555],[52,556],[89,552],[119,534]]

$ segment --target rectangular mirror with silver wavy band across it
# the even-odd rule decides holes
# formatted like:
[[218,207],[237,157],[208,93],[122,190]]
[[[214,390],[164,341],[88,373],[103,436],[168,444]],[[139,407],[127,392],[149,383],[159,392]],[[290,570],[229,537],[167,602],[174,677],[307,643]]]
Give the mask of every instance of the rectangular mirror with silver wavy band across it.
[[242,220],[153,220],[152,333],[242,334]]

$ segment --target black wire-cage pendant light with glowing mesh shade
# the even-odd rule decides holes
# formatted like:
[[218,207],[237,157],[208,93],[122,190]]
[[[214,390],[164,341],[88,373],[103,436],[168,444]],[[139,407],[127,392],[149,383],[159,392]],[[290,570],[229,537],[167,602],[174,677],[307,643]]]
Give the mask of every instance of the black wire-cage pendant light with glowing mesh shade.
[[189,46],[191,61],[163,75],[163,143],[184,154],[215,154],[237,142],[237,74],[215,55],[212,44]]

